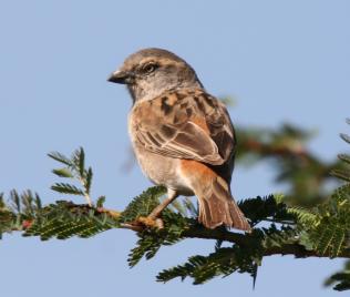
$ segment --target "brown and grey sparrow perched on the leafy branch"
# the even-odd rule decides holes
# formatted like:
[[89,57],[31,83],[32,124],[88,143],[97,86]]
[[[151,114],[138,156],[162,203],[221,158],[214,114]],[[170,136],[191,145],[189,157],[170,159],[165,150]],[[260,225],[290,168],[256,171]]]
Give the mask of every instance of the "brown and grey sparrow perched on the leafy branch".
[[196,195],[198,222],[206,228],[250,232],[230,191],[237,147],[233,123],[195,70],[171,51],[147,48],[128,55],[107,80],[126,84],[136,160],[151,182],[167,188],[167,198],[148,218],[159,218],[179,195]]

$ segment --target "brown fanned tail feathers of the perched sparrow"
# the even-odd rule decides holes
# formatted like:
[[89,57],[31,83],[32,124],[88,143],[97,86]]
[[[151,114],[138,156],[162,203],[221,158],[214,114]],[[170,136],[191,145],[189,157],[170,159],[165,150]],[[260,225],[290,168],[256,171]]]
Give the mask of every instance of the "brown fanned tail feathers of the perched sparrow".
[[203,191],[195,190],[199,202],[199,223],[207,228],[225,225],[249,232],[250,225],[234,201],[230,190],[220,176],[212,180],[212,184]]

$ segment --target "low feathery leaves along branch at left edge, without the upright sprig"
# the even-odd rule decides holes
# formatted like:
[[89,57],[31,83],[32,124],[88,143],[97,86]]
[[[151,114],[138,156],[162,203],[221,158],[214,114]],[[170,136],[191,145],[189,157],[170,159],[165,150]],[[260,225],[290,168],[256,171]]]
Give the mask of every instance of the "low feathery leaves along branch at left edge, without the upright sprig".
[[112,227],[117,219],[87,205],[58,201],[44,207],[38,194],[11,192],[10,205],[1,199],[0,233],[22,231],[23,236],[66,239],[72,236],[91,237]]

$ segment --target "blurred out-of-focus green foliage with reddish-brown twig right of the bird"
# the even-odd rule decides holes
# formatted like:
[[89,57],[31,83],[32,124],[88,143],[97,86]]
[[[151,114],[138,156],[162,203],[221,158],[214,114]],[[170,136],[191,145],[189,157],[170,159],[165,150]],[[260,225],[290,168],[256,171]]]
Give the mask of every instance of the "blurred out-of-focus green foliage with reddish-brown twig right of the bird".
[[294,203],[313,205],[327,197],[323,185],[334,181],[329,172],[347,171],[342,162],[323,162],[307,151],[305,143],[313,134],[289,124],[278,130],[238,127],[237,161],[245,164],[268,161],[276,168],[275,180],[288,185],[288,196]]

